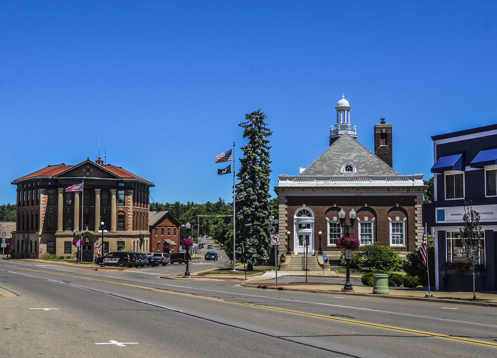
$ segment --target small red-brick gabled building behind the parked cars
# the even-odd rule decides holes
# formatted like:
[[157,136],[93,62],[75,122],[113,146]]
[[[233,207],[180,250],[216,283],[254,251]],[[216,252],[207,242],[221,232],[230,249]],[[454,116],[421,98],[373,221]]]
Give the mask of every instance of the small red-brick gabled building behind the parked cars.
[[181,223],[169,211],[150,211],[150,252],[173,253],[179,248]]

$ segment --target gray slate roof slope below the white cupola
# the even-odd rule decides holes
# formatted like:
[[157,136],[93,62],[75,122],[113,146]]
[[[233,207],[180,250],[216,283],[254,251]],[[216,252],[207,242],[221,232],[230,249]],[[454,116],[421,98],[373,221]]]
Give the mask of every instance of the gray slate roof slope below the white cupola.
[[354,165],[357,176],[397,176],[388,164],[348,134],[340,136],[301,176],[340,176],[344,164]]

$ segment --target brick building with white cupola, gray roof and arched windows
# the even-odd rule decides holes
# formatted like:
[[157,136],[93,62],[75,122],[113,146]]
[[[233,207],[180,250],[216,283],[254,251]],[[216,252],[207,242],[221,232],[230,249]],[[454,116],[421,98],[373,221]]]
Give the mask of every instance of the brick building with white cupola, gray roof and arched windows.
[[338,212],[343,209],[350,224],[348,213],[354,209],[350,236],[361,245],[391,246],[406,256],[422,239],[423,176],[400,175],[392,168],[391,124],[382,119],[374,126],[375,155],[357,141],[343,96],[335,109],[330,146],[299,175],[278,177],[280,252],[288,248],[303,255],[308,242],[310,255],[338,259],[334,240],[344,234]]

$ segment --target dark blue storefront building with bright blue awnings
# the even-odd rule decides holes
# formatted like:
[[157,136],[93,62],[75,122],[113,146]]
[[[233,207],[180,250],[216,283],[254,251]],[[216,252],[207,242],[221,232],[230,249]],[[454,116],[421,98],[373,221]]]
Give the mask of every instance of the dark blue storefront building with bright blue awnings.
[[480,213],[484,249],[478,291],[496,290],[497,256],[497,124],[432,136],[434,203],[423,205],[423,219],[433,228],[436,290],[473,290],[469,273],[456,277],[447,263],[465,263],[462,256],[463,200]]

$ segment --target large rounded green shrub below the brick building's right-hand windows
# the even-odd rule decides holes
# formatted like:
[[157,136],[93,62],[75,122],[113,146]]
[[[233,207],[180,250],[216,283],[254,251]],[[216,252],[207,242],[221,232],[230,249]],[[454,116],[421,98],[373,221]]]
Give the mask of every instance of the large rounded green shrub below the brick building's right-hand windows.
[[390,246],[364,245],[361,246],[361,255],[364,258],[364,267],[372,271],[401,271],[404,268],[404,260]]

